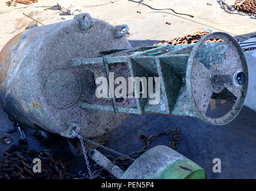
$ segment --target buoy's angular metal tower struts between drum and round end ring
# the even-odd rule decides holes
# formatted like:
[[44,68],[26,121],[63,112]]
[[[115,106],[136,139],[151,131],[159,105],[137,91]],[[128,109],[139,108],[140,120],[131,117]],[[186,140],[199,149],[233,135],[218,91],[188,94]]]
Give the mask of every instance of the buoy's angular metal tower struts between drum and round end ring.
[[[161,106],[150,106],[146,104],[147,100],[143,100],[143,98],[135,98],[137,108],[127,108],[127,107],[117,107],[115,104],[115,99],[112,98],[113,106],[100,106],[95,104],[89,104],[83,101],[80,101],[80,106],[85,109],[101,109],[101,110],[109,110],[113,112],[124,112],[124,113],[162,113],[162,114],[171,114],[171,115],[182,115],[180,110],[174,109],[174,112],[171,113],[172,107],[174,106],[174,102],[176,101],[177,94],[179,93],[179,89],[182,85],[182,75],[185,75],[186,71],[186,63],[188,61],[189,54],[173,54],[172,51],[179,50],[180,48],[188,47],[187,45],[179,45],[179,46],[141,46],[136,48],[130,48],[128,50],[112,50],[109,51],[110,54],[105,55],[100,58],[73,58],[70,61],[71,67],[81,66],[86,64],[103,64],[106,69],[106,76],[109,76],[109,67],[108,64],[113,63],[128,63],[129,73],[131,77],[135,76],[146,76],[147,70],[151,70],[150,73],[152,76],[159,76],[161,79],[161,94],[163,103]],[[192,47],[192,46],[189,46]],[[131,56],[122,56],[124,54],[135,53]],[[103,54],[107,54],[104,52]],[[164,61],[170,60],[170,63],[167,63],[168,66],[176,70],[178,75],[176,76],[176,72],[172,70],[165,70]],[[179,62],[179,66],[176,66],[176,61]],[[139,63],[139,64],[137,64]],[[141,66],[142,65],[142,66]],[[146,66],[147,65],[147,66]],[[146,70],[143,68],[146,67]],[[169,73],[168,73],[169,72]],[[163,74],[168,73],[167,76],[163,76]],[[168,88],[165,80],[168,76],[172,76],[174,78],[176,76],[177,84],[179,84],[174,89]],[[179,79],[178,79],[179,78]],[[174,83],[176,84],[176,83]],[[171,91],[171,95],[166,91],[168,89],[168,93]],[[144,98],[145,99],[145,98]],[[163,105],[164,104],[164,105]],[[181,103],[180,103],[181,104]],[[165,107],[165,110],[161,109],[161,107]],[[179,106],[176,106],[179,107]],[[195,116],[194,113],[186,113],[188,116]]]

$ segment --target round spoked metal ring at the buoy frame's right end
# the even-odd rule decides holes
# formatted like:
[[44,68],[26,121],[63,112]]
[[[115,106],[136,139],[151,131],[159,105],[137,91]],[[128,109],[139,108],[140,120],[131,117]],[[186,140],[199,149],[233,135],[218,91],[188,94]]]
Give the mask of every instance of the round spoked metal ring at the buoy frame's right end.
[[[213,38],[225,42],[204,43]],[[215,82],[212,82],[213,75],[218,79]],[[248,88],[248,67],[242,48],[232,36],[222,32],[209,33],[195,44],[188,59],[186,88],[198,117],[203,121],[225,125],[237,116]],[[236,96],[233,107],[219,118],[206,116],[212,94],[224,88]]]

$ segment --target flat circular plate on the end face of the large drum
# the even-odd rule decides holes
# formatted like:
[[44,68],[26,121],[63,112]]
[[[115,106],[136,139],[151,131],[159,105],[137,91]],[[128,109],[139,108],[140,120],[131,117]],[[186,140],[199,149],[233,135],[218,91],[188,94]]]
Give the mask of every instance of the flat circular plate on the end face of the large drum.
[[47,102],[58,109],[71,107],[81,94],[79,76],[67,67],[59,67],[50,72],[43,85]]

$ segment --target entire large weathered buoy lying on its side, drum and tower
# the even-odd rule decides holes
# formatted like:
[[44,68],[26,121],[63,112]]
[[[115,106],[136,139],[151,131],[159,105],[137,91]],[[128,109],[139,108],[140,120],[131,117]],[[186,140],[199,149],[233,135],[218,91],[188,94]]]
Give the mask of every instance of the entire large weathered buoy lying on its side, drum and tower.
[[[236,118],[248,88],[248,67],[236,39],[215,32],[197,44],[131,48],[127,33],[125,24],[114,27],[85,13],[15,36],[0,53],[5,112],[26,127],[65,137],[74,137],[74,129],[85,138],[109,133],[128,113],[192,116],[213,125]],[[207,43],[214,38],[222,42]],[[119,83],[113,73],[122,77]],[[104,98],[97,96],[98,77],[106,82],[100,80],[107,87]],[[127,79],[123,96],[115,97]],[[212,98],[234,104],[211,115]]]

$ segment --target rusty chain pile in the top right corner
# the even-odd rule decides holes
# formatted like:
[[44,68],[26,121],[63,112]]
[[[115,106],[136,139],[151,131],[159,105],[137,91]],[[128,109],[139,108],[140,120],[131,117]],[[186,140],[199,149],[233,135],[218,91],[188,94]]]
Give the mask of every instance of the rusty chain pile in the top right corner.
[[238,0],[234,3],[234,8],[239,11],[256,14],[256,0]]

